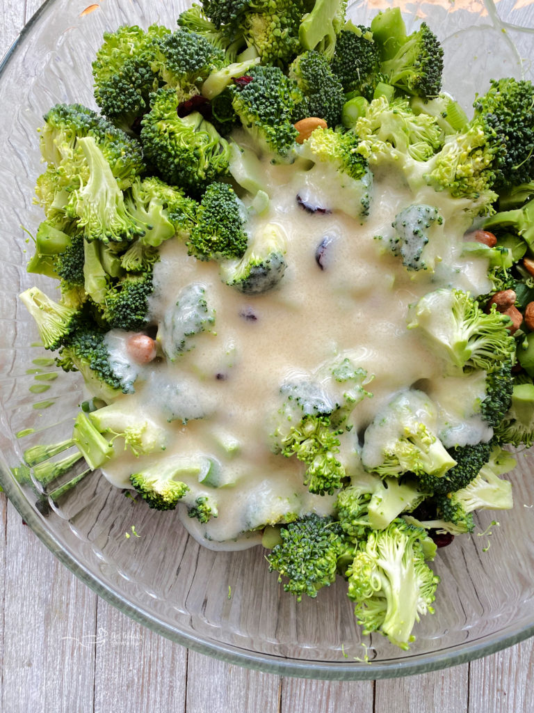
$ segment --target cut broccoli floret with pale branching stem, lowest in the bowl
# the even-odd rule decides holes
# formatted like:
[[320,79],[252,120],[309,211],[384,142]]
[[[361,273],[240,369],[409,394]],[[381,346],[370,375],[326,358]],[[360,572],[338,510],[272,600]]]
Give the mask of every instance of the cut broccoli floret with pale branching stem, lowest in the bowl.
[[348,596],[363,632],[379,631],[392,644],[408,649],[419,615],[433,613],[439,577],[425,563],[435,552],[422,528],[397,519],[372,530],[347,570]]

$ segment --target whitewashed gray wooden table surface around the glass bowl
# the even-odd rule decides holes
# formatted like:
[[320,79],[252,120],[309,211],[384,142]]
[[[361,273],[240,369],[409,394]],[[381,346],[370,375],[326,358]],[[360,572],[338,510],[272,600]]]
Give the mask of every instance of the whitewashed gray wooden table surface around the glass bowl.
[[[0,55],[40,5],[1,0]],[[80,583],[3,495],[0,572],[0,713],[534,712],[533,640],[444,671],[347,683],[188,651]]]

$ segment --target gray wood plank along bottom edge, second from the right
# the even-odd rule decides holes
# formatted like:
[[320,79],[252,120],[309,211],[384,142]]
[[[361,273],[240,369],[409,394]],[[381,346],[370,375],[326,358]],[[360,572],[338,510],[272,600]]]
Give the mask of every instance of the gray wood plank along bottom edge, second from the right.
[[375,684],[376,713],[466,713],[467,705],[468,664]]

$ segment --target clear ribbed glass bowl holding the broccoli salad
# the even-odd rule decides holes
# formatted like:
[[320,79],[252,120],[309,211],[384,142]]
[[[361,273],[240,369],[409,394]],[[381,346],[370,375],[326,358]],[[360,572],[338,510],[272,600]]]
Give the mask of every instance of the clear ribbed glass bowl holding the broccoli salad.
[[[491,77],[533,78],[529,0],[399,4],[409,27],[426,19],[439,35],[444,87],[464,106],[486,91]],[[390,5],[356,2],[350,16],[368,24]],[[498,513],[501,526],[486,530],[495,515],[483,513],[482,536],[456,538],[439,551],[436,614],[417,625],[407,652],[379,635],[362,638],[342,581],[298,604],[268,573],[259,548],[201,548],[172,513],[125,498],[98,471],[53,500],[20,467],[28,446],[70,436],[83,396],[80,379],[58,372],[50,354],[32,346],[36,329],[17,300],[35,277],[38,287],[53,289],[50,280],[25,270],[21,226],[35,232],[41,221],[32,203],[41,172],[36,128],[56,102],[95,106],[90,62],[103,31],[120,24],[172,27],[182,9],[170,1],[48,0],[1,66],[1,485],[43,543],[96,593],[162,635],[228,662],[301,677],[394,677],[465,662],[533,635],[534,463],[528,454],[518,458],[515,509]],[[125,538],[132,525],[142,537]]]

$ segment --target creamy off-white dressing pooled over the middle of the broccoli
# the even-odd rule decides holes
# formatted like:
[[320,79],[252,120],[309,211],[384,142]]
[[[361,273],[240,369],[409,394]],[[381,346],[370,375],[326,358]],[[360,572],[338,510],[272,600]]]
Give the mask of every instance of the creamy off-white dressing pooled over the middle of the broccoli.
[[[341,210],[331,173],[322,175],[316,166],[313,177],[321,202],[333,210],[311,215],[296,200],[300,190],[310,190],[311,174],[304,168],[302,162],[261,163],[270,202],[261,215],[251,214],[248,230],[253,235],[274,223],[288,237],[287,269],[270,291],[242,294],[223,282],[216,262],[189,257],[178,239],[162,245],[154,273],[153,321],[163,322],[184,287],[201,284],[214,309],[214,324],[209,332],[190,337],[188,349],[174,361],[161,354],[152,364],[136,367],[135,393],[120,396],[127,399],[128,409],[169,431],[168,446],[164,453],[139,458],[125,452],[108,463],[105,475],[127,488],[132,473],[161,459],[177,454],[213,458],[219,468],[217,486],[183,479],[191,488],[188,504],[208,495],[216,501],[218,517],[200,524],[187,517],[184,506],[179,515],[192,535],[211,548],[217,543],[225,548],[256,544],[258,536],[243,535],[244,530],[275,523],[284,513],[332,511],[334,496],[312,495],[303,484],[303,463],[272,452],[271,432],[281,408],[281,385],[315,373],[339,355],[350,354],[355,366],[367,371],[365,389],[372,391],[350,415],[354,428],[340,436],[339,457],[347,473],[358,467],[358,436],[394,394],[414,384],[434,400],[447,446],[456,436],[459,443],[486,436],[470,406],[480,397],[481,384],[473,380],[467,390],[465,381],[445,384],[443,361],[419,330],[407,329],[410,304],[432,290],[451,284],[473,294],[488,290],[486,260],[461,257],[470,225],[464,205],[430,188],[413,195],[401,173],[382,168],[373,181],[370,215],[351,217]],[[377,240],[391,234],[395,215],[413,203],[435,205],[444,218],[425,248],[434,272],[409,272]],[[331,240],[321,269],[315,251],[325,237]],[[108,338],[114,363],[125,358],[124,338]],[[130,374],[127,365],[121,368]],[[462,426],[464,420],[467,425]]]

